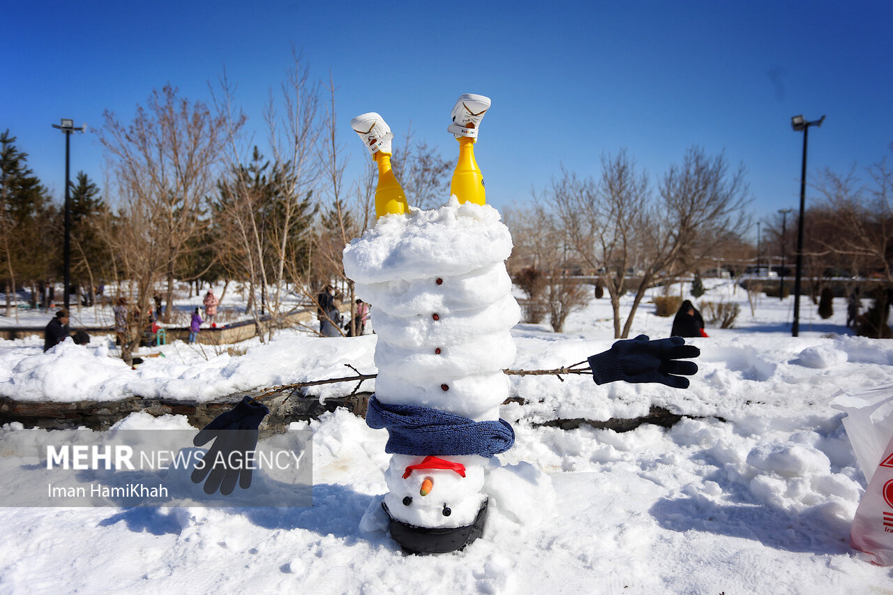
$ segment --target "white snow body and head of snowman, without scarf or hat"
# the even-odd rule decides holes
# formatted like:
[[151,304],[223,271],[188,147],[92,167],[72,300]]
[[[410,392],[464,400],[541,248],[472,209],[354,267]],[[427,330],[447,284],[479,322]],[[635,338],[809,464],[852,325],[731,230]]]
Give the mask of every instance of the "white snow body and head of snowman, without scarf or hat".
[[[459,205],[455,197],[439,209],[381,217],[345,248],[345,272],[373,306],[382,404],[498,420],[509,387],[502,370],[515,356],[510,331],[521,317],[505,271],[511,252],[496,209]],[[426,455],[439,453],[392,457],[385,474],[390,513],[421,527],[471,524],[486,499],[487,459],[449,457],[464,465],[464,477],[437,469],[404,477]]]

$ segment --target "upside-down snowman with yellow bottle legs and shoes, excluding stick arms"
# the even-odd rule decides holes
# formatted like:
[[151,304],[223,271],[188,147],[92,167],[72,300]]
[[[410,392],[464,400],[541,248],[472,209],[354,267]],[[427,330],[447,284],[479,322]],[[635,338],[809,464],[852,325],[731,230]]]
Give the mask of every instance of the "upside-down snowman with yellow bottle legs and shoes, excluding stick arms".
[[393,456],[384,507],[404,549],[447,552],[480,535],[487,457],[513,443],[499,419],[508,397],[512,327],[520,309],[505,259],[512,238],[485,204],[474,158],[488,97],[463,95],[448,130],[459,162],[446,206],[410,209],[390,170],[391,134],[378,113],[351,122],[379,166],[374,229],[346,247],[357,294],[375,306],[376,391],[367,423],[387,428]]

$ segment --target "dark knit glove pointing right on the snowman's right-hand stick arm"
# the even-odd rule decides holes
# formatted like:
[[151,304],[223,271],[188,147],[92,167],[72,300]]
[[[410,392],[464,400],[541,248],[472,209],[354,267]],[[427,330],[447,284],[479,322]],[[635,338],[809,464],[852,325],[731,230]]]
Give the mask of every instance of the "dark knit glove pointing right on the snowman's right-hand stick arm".
[[701,350],[686,345],[681,337],[649,341],[646,335],[639,335],[617,341],[604,353],[588,357],[588,361],[596,384],[660,382],[676,389],[688,389],[689,379],[677,374],[697,373],[697,364],[677,360],[699,355]]

